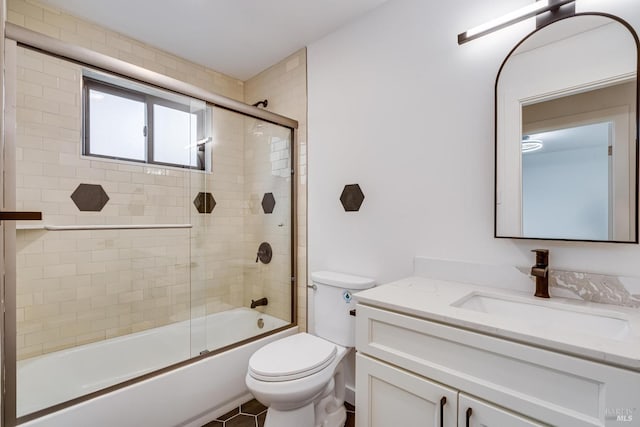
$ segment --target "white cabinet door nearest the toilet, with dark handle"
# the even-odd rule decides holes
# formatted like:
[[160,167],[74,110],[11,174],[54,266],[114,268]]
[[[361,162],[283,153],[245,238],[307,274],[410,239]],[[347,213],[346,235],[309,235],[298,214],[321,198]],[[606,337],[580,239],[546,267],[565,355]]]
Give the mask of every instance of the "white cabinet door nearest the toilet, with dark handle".
[[456,390],[356,355],[357,427],[455,427]]

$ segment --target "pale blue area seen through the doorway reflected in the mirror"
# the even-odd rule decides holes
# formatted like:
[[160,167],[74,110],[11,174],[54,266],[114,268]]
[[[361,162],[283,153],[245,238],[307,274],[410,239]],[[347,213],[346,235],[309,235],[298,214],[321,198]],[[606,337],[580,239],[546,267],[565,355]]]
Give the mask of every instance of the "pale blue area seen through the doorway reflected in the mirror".
[[523,143],[524,236],[610,238],[610,127],[602,122],[525,137],[539,148],[525,150]]

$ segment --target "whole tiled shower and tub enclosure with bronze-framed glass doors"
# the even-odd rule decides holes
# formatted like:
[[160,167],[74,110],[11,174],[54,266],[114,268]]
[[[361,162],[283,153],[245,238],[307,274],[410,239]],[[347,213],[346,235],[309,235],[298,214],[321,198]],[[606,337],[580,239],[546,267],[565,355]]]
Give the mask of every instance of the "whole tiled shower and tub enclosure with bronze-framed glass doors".
[[[22,72],[32,61],[61,75]],[[5,68],[7,209],[43,220],[5,225],[3,425],[200,427],[249,400],[250,356],[298,332],[297,121],[9,23]],[[48,104],[23,105],[20,91],[63,92],[68,76],[74,131],[34,122]],[[145,153],[171,141],[185,160],[135,162],[89,145],[100,141],[95,129],[117,139],[113,126],[81,118],[120,123],[104,111],[125,107],[155,126]],[[33,132],[66,138],[64,153],[26,137]],[[46,167],[21,161],[25,150]],[[56,200],[42,203],[44,189],[30,182]],[[273,260],[260,257],[267,242]],[[262,297],[272,315],[246,307]],[[166,326],[141,330],[154,325]]]

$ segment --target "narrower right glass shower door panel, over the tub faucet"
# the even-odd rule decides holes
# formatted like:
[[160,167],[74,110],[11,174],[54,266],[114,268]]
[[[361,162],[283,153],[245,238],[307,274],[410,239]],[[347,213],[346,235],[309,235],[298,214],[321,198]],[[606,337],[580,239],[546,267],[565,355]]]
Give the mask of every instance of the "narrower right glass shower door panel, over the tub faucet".
[[206,179],[216,205],[202,242],[208,351],[293,321],[293,132],[212,111],[213,175]]

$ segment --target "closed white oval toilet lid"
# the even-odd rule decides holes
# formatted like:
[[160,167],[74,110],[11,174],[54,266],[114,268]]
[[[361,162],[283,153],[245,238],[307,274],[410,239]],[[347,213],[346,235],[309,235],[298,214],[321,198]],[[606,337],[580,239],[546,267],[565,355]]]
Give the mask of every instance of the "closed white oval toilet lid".
[[336,357],[336,345],[307,333],[274,341],[249,359],[249,373],[262,381],[289,381],[326,368]]

